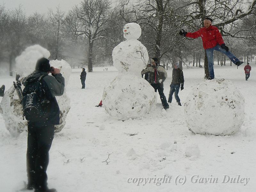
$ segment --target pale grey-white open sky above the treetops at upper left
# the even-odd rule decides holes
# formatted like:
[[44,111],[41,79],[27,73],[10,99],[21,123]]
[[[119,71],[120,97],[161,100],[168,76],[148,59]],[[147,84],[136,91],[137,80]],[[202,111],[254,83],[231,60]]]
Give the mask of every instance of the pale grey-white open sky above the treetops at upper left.
[[47,13],[48,8],[53,11],[60,4],[60,10],[68,12],[76,4],[80,4],[82,0],[0,0],[0,5],[4,5],[6,9],[13,10],[22,5],[26,15],[34,12]]

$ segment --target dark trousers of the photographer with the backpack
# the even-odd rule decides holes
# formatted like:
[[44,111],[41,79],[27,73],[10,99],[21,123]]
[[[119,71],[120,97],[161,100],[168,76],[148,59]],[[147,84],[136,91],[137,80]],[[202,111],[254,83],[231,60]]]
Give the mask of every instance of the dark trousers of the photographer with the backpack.
[[28,185],[38,191],[47,189],[49,150],[54,137],[54,125],[28,125],[27,175]]

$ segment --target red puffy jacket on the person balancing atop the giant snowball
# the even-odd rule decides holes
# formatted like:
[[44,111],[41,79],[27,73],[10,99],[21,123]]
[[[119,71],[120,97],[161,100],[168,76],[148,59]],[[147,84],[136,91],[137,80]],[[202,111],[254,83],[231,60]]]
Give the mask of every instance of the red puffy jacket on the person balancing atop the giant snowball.
[[197,37],[201,37],[203,40],[204,49],[210,49],[215,47],[217,44],[222,45],[224,41],[220,34],[220,31],[215,26],[210,26],[208,28],[200,28],[198,31],[194,33],[187,33],[186,37],[191,37],[193,39]]

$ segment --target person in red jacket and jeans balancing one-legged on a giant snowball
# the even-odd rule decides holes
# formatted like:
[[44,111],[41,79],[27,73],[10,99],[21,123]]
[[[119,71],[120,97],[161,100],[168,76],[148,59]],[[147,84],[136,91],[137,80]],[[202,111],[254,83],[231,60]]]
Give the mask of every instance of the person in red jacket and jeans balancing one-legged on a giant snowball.
[[206,50],[207,58],[208,58],[208,68],[209,68],[209,78],[214,79],[214,71],[213,71],[213,50],[224,53],[228,56],[228,58],[235,64],[237,67],[243,64],[243,61],[237,59],[230,51],[229,48],[225,45],[220,31],[217,27],[212,26],[212,19],[206,17],[204,19],[204,27],[200,28],[198,31],[194,33],[188,33],[184,29],[180,30],[180,35],[190,38],[198,38],[201,37],[203,40],[203,47]]

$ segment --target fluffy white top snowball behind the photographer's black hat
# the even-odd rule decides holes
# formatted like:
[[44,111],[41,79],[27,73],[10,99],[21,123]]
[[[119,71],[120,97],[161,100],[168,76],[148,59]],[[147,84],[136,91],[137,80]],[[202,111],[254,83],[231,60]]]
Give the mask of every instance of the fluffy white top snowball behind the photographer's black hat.
[[49,58],[50,52],[40,45],[27,47],[18,57],[15,58],[17,74],[22,77],[32,73],[35,70],[36,61],[42,57]]

